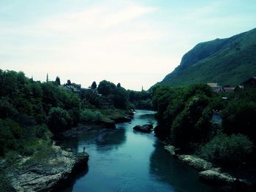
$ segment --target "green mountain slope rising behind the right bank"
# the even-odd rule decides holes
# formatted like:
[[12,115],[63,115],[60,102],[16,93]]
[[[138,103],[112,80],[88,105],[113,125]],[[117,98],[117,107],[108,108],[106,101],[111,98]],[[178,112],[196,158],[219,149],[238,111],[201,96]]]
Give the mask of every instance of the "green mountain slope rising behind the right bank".
[[235,86],[256,76],[256,28],[226,39],[197,44],[159,85],[173,87],[197,82]]

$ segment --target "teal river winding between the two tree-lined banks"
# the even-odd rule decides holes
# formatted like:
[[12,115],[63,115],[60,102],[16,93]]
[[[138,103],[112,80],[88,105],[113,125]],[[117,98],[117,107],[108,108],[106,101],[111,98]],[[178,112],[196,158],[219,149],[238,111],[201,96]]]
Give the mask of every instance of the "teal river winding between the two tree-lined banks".
[[78,137],[64,138],[61,145],[78,151],[86,147],[90,158],[63,191],[219,191],[166,153],[154,133],[132,129],[146,123],[156,125],[154,112],[137,110],[131,123],[118,123],[116,129],[90,128]]

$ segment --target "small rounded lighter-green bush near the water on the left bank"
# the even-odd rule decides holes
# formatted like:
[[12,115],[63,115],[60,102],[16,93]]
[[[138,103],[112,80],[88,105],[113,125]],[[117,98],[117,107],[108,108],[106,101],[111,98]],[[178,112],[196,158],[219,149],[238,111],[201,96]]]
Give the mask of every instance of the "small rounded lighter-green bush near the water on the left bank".
[[82,112],[80,112],[81,122],[86,123],[97,123],[102,120],[102,116],[102,113],[99,111],[83,110]]

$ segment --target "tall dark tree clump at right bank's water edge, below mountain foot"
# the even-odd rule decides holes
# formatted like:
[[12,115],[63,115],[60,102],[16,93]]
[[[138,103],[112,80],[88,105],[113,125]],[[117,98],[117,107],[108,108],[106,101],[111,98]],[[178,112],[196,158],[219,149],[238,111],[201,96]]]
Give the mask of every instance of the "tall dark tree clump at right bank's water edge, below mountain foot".
[[162,134],[170,134],[165,137],[170,137],[180,147],[205,142],[211,127],[209,104],[213,95],[211,88],[204,84],[153,88],[153,106],[157,109],[159,123],[157,134],[161,134],[162,127]]

